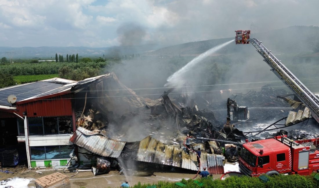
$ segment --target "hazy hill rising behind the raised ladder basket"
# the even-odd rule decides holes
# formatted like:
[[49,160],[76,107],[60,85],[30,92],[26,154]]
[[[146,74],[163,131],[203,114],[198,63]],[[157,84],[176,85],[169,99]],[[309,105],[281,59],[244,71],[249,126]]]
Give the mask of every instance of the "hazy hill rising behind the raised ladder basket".
[[[252,34],[250,38],[257,38],[260,41],[263,41],[263,44],[268,49],[271,49],[274,52],[276,51],[275,53],[312,53],[315,46],[319,43],[319,27],[314,26],[291,26],[264,33],[251,32]],[[234,37],[189,42],[162,48],[154,52],[147,53],[147,55],[193,56],[201,54],[216,45],[225,43],[232,39],[234,39]],[[235,43],[232,43],[217,53],[229,54],[243,52],[242,49],[241,45],[235,45]]]

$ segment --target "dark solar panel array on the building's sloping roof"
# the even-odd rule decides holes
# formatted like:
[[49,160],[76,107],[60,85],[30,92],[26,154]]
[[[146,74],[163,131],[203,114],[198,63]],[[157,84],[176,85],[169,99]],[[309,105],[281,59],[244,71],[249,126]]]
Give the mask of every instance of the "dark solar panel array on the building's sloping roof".
[[62,86],[64,86],[64,84],[39,81],[20,86],[3,88],[0,89],[0,105],[11,106],[11,104],[7,101],[8,96],[11,94],[17,97],[18,102]]

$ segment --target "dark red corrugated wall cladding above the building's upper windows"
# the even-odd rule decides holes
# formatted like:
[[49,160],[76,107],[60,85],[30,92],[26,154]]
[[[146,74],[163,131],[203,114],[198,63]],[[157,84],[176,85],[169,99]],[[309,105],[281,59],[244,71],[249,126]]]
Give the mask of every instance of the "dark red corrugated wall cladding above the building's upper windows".
[[72,94],[52,97],[46,100],[35,100],[17,105],[19,115],[27,112],[28,117],[70,116],[72,115]]

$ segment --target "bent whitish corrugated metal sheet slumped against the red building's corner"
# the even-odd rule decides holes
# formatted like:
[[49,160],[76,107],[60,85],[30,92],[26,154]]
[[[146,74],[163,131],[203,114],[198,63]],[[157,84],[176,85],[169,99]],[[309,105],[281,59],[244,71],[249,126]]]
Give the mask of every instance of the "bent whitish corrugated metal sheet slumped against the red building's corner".
[[88,151],[103,157],[119,157],[125,142],[95,134],[83,127],[78,127],[70,141]]

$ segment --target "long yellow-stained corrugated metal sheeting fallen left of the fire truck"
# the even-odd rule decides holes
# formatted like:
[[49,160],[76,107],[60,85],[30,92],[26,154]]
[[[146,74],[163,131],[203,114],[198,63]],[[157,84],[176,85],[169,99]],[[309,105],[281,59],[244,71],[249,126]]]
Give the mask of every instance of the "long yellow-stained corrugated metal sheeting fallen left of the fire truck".
[[[172,145],[166,145],[157,141],[150,136],[144,138],[139,145],[137,151],[137,161],[144,161],[156,164],[165,164],[169,166],[180,167],[184,169],[197,171],[197,156],[196,153],[190,152],[187,154],[184,150]],[[207,167],[212,174],[223,174],[223,161],[225,157],[216,154],[201,154],[201,170]]]

